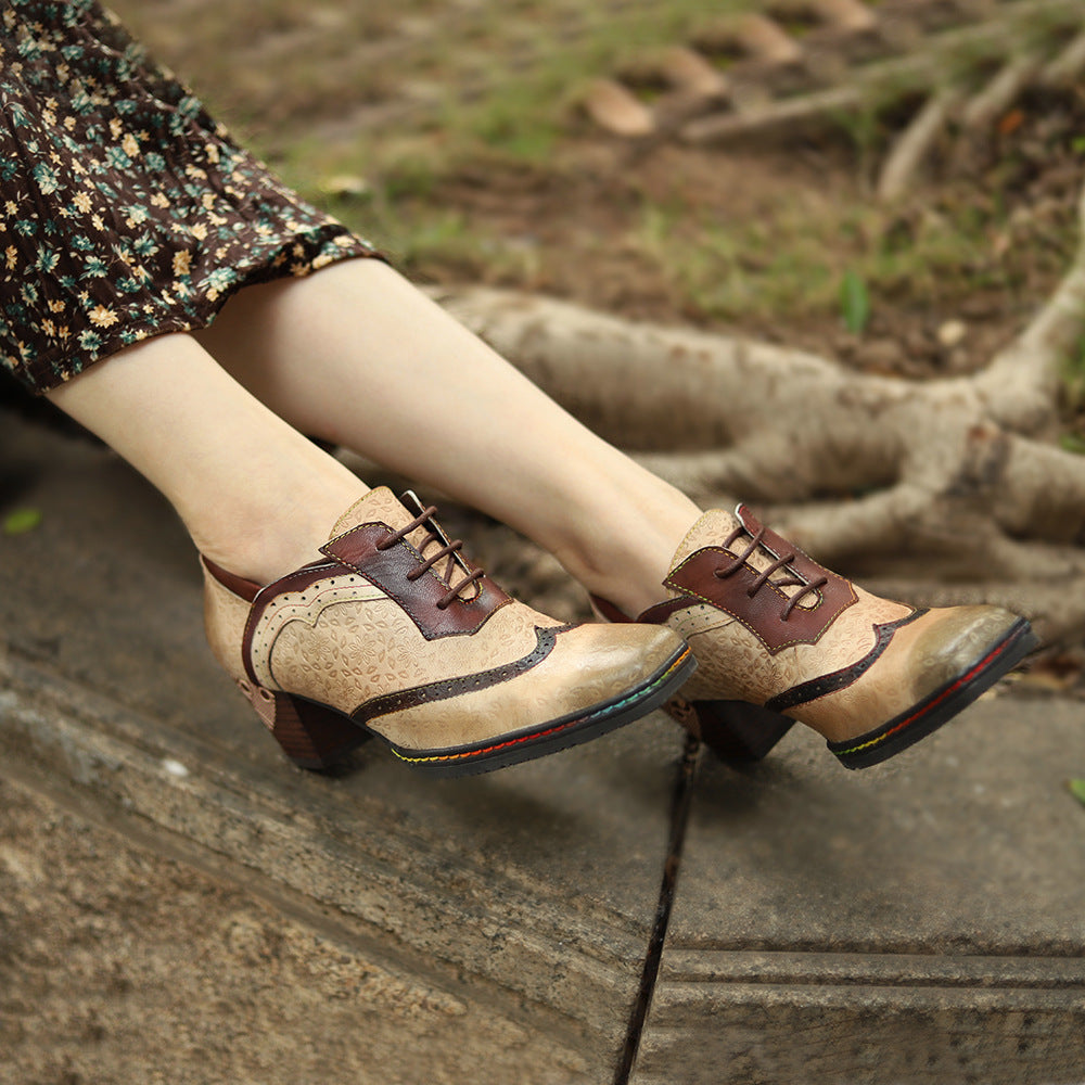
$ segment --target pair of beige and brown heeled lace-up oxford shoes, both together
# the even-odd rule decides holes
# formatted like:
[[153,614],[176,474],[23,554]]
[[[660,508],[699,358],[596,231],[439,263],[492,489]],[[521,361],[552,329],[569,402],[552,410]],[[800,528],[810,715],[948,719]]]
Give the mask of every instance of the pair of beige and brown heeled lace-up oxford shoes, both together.
[[264,587],[204,560],[212,650],[296,764],[326,768],[375,735],[423,771],[462,776],[664,706],[724,757],[763,756],[800,720],[857,768],[1036,643],[997,608],[870,596],[742,507],[693,525],[666,598],[636,622],[596,600],[617,624],[564,625],[467,561],[434,511],[371,490],[316,560]]

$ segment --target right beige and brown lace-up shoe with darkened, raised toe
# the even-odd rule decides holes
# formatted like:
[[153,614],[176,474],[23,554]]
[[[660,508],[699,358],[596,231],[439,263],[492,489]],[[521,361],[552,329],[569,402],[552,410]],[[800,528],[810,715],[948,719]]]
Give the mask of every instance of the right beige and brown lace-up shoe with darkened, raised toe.
[[[795,720],[848,768],[941,727],[1038,643],[997,607],[917,610],[812,561],[744,506],[706,512],[675,554],[668,598],[638,623],[689,642],[698,673],[667,709],[726,760],[764,756]],[[625,618],[595,600],[612,621]]]

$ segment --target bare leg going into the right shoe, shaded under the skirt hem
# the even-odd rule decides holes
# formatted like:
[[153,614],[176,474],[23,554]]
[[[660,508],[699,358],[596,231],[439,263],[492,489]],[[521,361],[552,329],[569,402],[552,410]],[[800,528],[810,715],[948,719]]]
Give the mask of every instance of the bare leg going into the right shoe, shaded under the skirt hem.
[[199,337],[297,429],[490,513],[631,613],[699,515],[380,261],[245,290]]

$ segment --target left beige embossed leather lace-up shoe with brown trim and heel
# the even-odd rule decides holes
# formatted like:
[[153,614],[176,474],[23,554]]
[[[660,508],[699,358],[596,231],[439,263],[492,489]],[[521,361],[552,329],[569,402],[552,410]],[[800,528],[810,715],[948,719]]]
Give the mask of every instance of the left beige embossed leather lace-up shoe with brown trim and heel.
[[263,588],[204,559],[212,650],[296,764],[378,735],[430,774],[482,773],[629,723],[695,668],[662,626],[562,625],[516,602],[405,500],[371,490],[318,560]]

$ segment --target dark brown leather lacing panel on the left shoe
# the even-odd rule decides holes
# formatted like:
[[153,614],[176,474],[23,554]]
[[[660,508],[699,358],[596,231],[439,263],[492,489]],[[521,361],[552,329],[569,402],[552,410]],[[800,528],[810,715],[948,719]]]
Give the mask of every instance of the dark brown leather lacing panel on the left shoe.
[[414,580],[407,578],[422,564],[418,551],[406,541],[387,550],[376,545],[393,534],[385,524],[359,524],[320,548],[344,567],[360,573],[395,599],[426,640],[476,633],[496,610],[512,600],[488,576],[477,580],[473,599],[458,596],[444,609],[437,605],[448,585],[431,569]]

